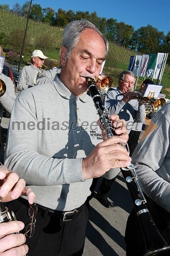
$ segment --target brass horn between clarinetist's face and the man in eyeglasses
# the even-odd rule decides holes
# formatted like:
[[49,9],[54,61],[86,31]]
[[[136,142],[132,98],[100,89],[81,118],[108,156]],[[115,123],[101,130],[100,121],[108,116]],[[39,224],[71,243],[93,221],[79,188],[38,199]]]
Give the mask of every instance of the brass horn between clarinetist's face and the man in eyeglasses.
[[113,78],[111,76],[98,76],[96,82],[99,82],[99,92],[101,95],[102,100],[104,101],[106,93],[110,90],[113,84]]

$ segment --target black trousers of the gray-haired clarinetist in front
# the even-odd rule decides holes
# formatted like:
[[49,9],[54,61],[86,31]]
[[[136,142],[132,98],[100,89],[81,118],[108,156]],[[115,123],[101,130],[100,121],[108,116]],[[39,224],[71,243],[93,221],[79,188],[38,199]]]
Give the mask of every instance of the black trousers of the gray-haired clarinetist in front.
[[[15,212],[16,219],[25,224],[31,222],[28,207],[18,200],[9,202],[7,207]],[[83,254],[88,209],[83,205],[81,213],[70,221],[63,222],[57,216],[37,213],[33,237],[27,238],[29,256],[79,256]]]

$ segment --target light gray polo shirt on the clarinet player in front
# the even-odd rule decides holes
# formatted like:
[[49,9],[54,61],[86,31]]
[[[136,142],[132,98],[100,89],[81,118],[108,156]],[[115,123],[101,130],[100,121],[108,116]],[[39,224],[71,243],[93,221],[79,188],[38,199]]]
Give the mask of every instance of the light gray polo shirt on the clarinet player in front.
[[103,141],[98,119],[91,97],[72,94],[58,75],[19,94],[5,164],[26,180],[36,203],[71,210],[86,201],[92,179],[83,179],[82,159]]

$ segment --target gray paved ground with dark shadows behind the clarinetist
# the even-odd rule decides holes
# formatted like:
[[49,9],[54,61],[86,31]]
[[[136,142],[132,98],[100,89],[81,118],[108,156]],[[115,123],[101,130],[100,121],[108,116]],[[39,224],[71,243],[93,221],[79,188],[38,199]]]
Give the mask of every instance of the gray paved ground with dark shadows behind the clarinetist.
[[[3,141],[6,139],[8,123],[8,118],[2,119]],[[1,161],[3,161],[4,145],[2,144],[0,151]],[[96,191],[100,183],[101,179],[98,181]],[[126,255],[124,235],[127,218],[132,209],[132,201],[121,173],[113,184],[109,199],[114,202],[112,208],[105,208],[95,198],[90,201],[83,256]]]

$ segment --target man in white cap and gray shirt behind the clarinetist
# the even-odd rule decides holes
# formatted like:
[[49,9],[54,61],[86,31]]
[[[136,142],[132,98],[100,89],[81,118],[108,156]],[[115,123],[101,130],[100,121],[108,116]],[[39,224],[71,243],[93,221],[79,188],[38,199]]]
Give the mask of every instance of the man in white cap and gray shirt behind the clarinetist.
[[17,83],[18,91],[35,86],[37,75],[43,66],[44,59],[46,58],[47,57],[40,50],[32,52],[31,65],[23,67],[20,72]]

